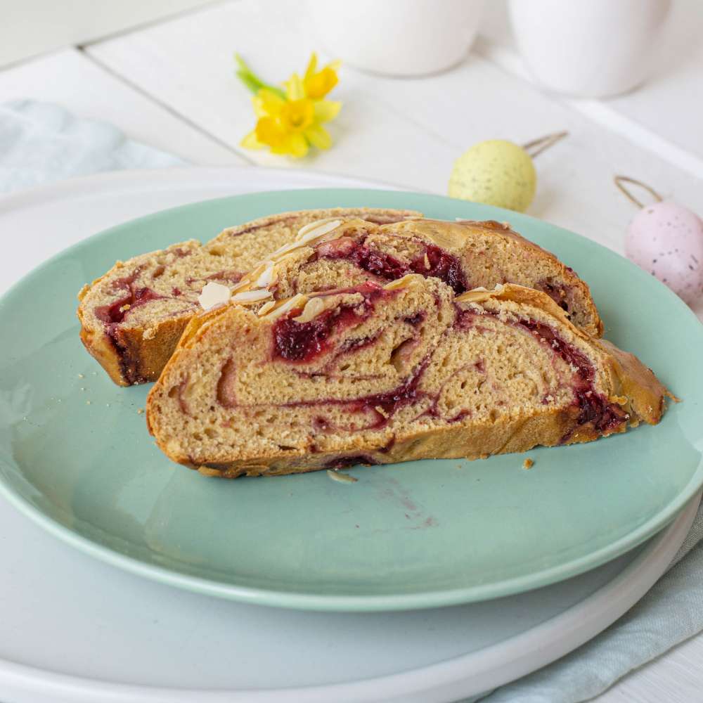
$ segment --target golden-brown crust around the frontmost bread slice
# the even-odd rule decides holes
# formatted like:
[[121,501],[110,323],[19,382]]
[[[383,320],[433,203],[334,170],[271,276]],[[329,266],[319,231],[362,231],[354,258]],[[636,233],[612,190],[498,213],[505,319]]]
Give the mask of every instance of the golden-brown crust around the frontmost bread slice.
[[[586,340],[605,355],[605,376],[607,378],[608,399],[629,413],[629,423],[607,432],[624,432],[627,424],[636,426],[640,420],[656,424],[664,412],[664,398],[671,396],[666,387],[654,376],[652,370],[641,363],[636,356],[622,352],[610,342],[595,340],[582,329],[577,328],[565,312],[543,292],[524,288],[520,285],[503,285],[496,290],[472,290],[456,297],[457,304],[480,303],[489,299],[517,302],[527,309],[534,308],[555,318],[556,325],[565,325],[571,333]],[[239,476],[269,476],[302,473],[330,467],[335,461],[349,458],[354,463],[385,464],[417,460],[420,458],[486,458],[491,454],[522,452],[540,444],[556,446],[592,441],[603,434],[592,424],[579,425],[576,422],[578,409],[574,406],[557,408],[538,414],[522,413],[503,422],[472,423],[471,425],[451,425],[424,432],[394,437],[390,446],[368,444],[361,437],[350,439],[352,449],[321,451],[318,453],[278,452],[266,456],[256,456],[246,460],[233,460],[224,463],[196,463],[193,458],[173,451],[172,446],[162,441],[160,413],[157,411],[160,386],[170,375],[176,375],[180,357],[188,349],[207,343],[209,328],[221,316],[239,314],[247,316],[247,321],[255,324],[257,316],[252,312],[229,305],[196,316],[186,328],[169,359],[162,375],[162,382],[150,392],[147,402],[147,423],[151,434],[156,437],[160,449],[176,463],[200,471],[203,475],[223,478]],[[172,371],[174,372],[172,374]]]

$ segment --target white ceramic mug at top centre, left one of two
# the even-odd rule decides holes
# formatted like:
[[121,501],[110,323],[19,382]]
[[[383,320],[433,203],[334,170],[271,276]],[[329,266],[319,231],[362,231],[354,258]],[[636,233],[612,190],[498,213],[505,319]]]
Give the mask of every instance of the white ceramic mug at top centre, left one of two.
[[361,70],[420,76],[464,58],[484,0],[308,0],[331,56]]

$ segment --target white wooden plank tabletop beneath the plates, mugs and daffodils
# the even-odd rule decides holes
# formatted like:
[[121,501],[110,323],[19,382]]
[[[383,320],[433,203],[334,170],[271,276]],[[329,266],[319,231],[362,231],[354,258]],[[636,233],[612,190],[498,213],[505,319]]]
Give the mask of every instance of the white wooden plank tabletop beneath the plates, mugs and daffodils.
[[[335,146],[294,165],[446,193],[453,160],[473,143],[523,143],[567,129],[569,138],[537,161],[529,212],[621,251],[634,209],[614,188],[616,173],[703,211],[702,34],[703,4],[677,0],[662,61],[645,86],[610,101],[567,99],[530,82],[496,2],[470,56],[449,72],[389,79],[343,69],[334,97],[344,108],[330,129]],[[303,4],[221,2],[8,67],[0,71],[0,103],[59,103],[196,165],[285,167],[291,162],[238,146],[253,117],[249,93],[234,77],[233,52],[277,80],[302,70],[312,49],[321,46]],[[701,316],[703,304],[696,311]],[[702,700],[703,636],[598,697]]]

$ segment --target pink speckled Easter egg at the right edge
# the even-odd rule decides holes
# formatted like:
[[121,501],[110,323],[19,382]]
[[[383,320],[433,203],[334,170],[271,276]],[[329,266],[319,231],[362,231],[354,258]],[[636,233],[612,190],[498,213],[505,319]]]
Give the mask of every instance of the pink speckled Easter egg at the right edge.
[[703,220],[676,202],[647,205],[633,217],[625,254],[685,302],[703,292]]

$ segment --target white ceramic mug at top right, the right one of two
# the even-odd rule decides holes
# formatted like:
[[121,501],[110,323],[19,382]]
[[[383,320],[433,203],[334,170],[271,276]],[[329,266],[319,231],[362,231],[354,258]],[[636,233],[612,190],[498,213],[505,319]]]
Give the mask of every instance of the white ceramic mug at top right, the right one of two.
[[640,84],[671,0],[510,0],[515,39],[544,86],[575,96]]

